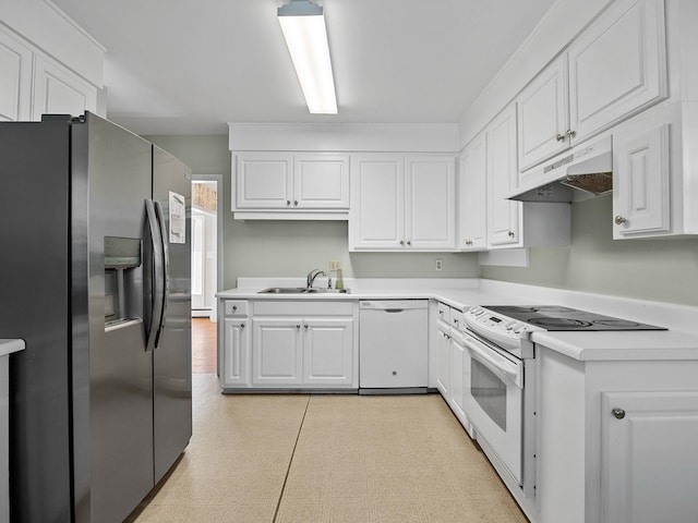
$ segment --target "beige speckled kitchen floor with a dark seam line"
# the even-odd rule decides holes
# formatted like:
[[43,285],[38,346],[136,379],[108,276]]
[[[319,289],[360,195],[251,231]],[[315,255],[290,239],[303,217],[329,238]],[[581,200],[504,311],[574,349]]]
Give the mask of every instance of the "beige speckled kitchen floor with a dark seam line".
[[526,523],[438,394],[220,394],[133,523]]

